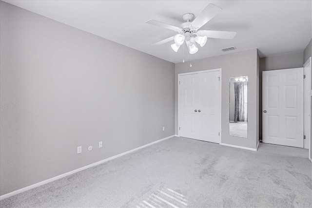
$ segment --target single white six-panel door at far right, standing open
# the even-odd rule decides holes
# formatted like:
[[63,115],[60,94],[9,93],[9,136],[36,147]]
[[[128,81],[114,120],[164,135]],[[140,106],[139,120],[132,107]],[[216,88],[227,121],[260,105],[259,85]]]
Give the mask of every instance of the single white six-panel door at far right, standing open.
[[303,148],[303,68],[262,75],[262,142]]

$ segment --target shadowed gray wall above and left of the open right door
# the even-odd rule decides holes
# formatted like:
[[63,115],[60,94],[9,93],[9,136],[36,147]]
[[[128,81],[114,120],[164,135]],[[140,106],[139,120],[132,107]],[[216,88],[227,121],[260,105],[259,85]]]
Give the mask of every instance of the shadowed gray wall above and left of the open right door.
[[259,138],[262,140],[262,72],[303,66],[303,52],[260,58],[259,74]]

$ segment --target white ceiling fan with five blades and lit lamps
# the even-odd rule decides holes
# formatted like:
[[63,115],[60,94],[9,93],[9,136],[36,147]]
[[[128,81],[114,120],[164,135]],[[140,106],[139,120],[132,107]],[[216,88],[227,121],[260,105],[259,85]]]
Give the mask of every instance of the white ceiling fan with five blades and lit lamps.
[[181,24],[181,28],[154,19],[147,20],[146,23],[148,24],[164,27],[178,33],[176,36],[166,38],[152,45],[161,45],[175,40],[175,43],[171,45],[171,48],[177,52],[180,46],[185,42],[190,54],[195,54],[198,51],[196,43],[203,47],[206,44],[207,38],[233,39],[236,32],[198,30],[209,20],[213,19],[221,10],[220,7],[210,3],[193,21],[192,19],[195,17],[194,14],[184,14],[182,18],[185,22]]

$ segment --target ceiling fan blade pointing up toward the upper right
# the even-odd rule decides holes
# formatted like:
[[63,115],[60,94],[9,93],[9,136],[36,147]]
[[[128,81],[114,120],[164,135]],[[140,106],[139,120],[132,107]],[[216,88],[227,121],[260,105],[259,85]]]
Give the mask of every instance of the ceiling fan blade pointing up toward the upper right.
[[222,9],[215,4],[208,4],[206,8],[193,20],[192,26],[201,28],[210,19],[213,19]]

